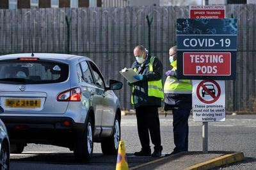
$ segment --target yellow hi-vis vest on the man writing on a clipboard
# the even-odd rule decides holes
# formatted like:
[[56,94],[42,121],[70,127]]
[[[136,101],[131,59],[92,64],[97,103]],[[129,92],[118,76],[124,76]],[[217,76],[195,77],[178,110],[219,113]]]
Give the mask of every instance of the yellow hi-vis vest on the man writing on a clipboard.
[[[149,71],[153,71],[153,63],[155,58],[156,57],[150,58]],[[134,68],[134,71],[136,72],[137,69]],[[157,81],[148,81],[148,96],[159,97],[162,101],[164,100],[164,92],[161,79]],[[134,85],[132,85],[131,103],[134,104]]]

